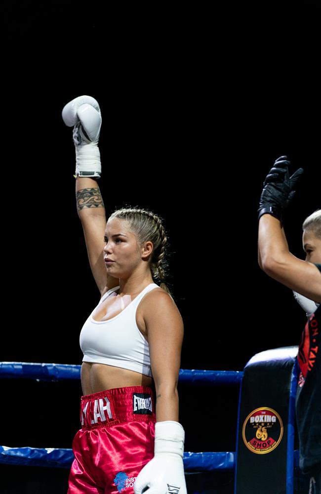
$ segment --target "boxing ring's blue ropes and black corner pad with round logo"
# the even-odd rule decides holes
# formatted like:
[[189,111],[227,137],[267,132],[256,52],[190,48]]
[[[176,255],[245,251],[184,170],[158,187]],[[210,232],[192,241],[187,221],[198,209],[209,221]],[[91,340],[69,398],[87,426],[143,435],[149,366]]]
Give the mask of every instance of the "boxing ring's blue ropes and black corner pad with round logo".
[[[254,494],[260,492],[258,485],[262,481],[256,480],[255,474],[268,471],[272,480],[265,485],[265,494],[303,492],[305,480],[299,471],[298,451],[294,451],[297,350],[298,347],[284,347],[261,352],[250,359],[244,371],[180,370],[180,383],[240,386],[236,451],[185,452],[187,483],[193,474],[199,474],[201,478],[203,472],[230,472],[234,487],[232,482],[230,490],[224,490],[224,493]],[[80,365],[0,362],[0,377],[38,382],[80,380]],[[260,391],[263,381],[268,396]],[[70,469],[73,459],[72,449],[0,446],[1,464]],[[207,494],[213,491],[202,490],[199,481],[198,489],[188,492]]]

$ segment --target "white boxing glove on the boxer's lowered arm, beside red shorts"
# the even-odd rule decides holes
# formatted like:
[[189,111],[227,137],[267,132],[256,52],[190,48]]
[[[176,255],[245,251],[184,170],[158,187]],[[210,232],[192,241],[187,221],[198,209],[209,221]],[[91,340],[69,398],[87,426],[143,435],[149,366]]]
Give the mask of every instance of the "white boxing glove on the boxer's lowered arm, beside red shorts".
[[184,440],[185,432],[179,422],[156,422],[154,458],[139,472],[134,483],[135,494],[187,494]]

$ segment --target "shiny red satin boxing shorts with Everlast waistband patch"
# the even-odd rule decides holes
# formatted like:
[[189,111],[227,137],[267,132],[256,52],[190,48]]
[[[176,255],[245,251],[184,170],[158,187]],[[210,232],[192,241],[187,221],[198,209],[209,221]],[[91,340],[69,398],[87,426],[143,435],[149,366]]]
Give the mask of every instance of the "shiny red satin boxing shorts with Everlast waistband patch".
[[155,422],[149,386],[81,396],[67,494],[134,494],[137,475],[154,457]]

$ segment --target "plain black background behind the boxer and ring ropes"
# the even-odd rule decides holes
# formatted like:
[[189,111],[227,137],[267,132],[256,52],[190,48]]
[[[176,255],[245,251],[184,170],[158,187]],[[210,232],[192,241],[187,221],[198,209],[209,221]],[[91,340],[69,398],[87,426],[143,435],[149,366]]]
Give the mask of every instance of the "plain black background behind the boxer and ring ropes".
[[[80,329],[100,295],[61,118],[81,94],[101,108],[107,215],[138,205],[164,218],[181,368],[242,370],[257,352],[299,342],[304,312],[257,263],[256,210],[287,154],[291,171],[304,168],[284,218],[303,257],[302,222],[321,207],[319,3],[171,9],[6,6],[2,361],[81,363]],[[1,385],[2,421],[22,431],[3,427],[0,444],[71,448],[80,382]],[[235,451],[237,403],[238,388],[180,385],[185,450]]]

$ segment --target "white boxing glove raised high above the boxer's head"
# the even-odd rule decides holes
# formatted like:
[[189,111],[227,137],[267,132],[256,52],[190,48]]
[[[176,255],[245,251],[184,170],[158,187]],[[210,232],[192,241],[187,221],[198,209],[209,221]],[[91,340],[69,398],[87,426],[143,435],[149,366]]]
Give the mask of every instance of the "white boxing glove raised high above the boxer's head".
[[68,127],[74,126],[73,139],[76,148],[75,178],[100,178],[101,163],[98,139],[101,113],[97,101],[91,96],[78,96],[62,110],[62,118]]

